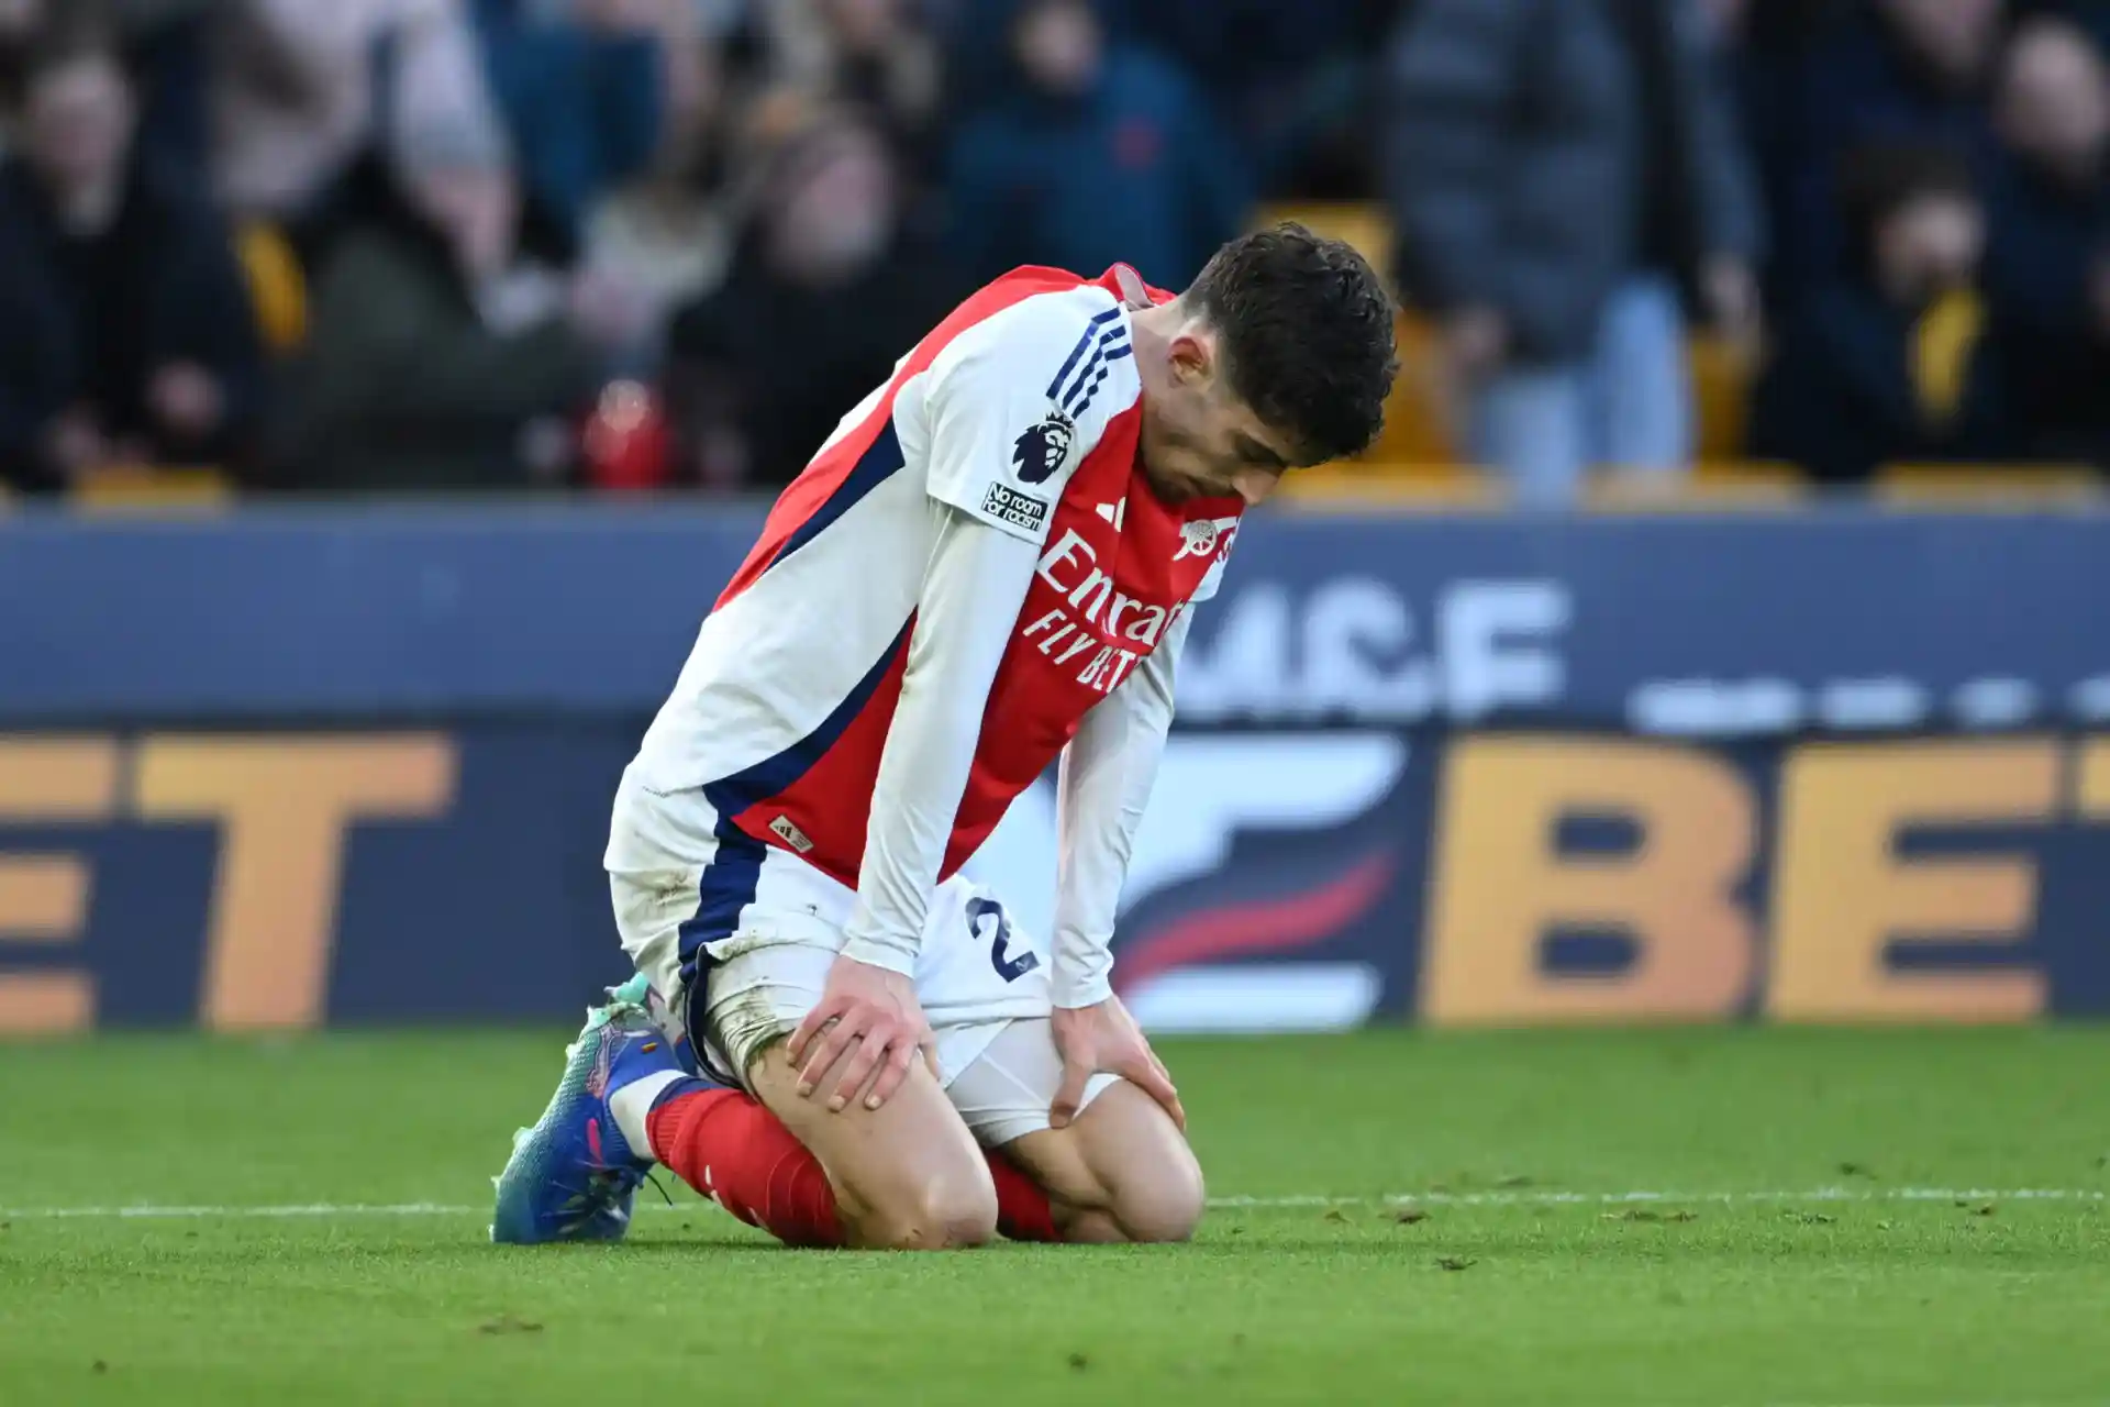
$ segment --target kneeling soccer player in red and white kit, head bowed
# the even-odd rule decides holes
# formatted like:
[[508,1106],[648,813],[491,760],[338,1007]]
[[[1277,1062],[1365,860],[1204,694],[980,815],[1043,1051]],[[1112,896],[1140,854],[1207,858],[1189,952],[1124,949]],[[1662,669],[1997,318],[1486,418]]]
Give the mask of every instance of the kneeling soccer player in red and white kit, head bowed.
[[[779,498],[622,776],[639,977],[492,1236],[616,1238],[663,1162],[793,1245],[1186,1238],[1186,1116],[1110,985],[1129,846],[1241,515],[1365,449],[1395,369],[1369,264],[1298,226],[1179,295],[1021,268],[924,338]],[[1044,953],[958,869],[1057,757]]]

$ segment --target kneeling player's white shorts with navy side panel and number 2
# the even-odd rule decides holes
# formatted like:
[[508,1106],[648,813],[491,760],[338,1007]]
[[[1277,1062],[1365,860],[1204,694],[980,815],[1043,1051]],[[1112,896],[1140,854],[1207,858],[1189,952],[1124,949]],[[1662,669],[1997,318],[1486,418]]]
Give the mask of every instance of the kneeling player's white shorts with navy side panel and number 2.
[[[713,1072],[745,1086],[753,1059],[821,1002],[855,890],[774,846],[722,837],[701,791],[654,793],[633,772],[606,865],[622,949]],[[937,888],[916,996],[968,1129],[987,1145],[1047,1129],[1061,1080],[1049,951],[987,888],[962,875]],[[1087,1103],[1114,1078],[1095,1076]]]

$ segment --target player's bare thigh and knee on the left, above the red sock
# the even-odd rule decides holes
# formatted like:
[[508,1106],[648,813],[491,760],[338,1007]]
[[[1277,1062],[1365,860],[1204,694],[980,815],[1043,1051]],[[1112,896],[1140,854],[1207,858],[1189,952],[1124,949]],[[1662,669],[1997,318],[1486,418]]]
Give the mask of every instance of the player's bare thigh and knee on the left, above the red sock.
[[[852,1055],[855,1046],[842,1063]],[[836,1074],[829,1069],[821,1086],[829,1088]],[[802,1099],[800,1069],[785,1042],[755,1057],[747,1084],[821,1160],[848,1245],[943,1251],[996,1236],[990,1167],[922,1061],[878,1110],[829,1112]]]

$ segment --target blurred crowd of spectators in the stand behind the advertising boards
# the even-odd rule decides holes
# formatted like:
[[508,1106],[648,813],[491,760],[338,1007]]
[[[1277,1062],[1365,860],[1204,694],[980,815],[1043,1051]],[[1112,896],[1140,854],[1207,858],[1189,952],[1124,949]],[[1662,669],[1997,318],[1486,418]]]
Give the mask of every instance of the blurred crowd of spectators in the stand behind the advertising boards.
[[1015,264],[1369,200],[1528,502],[2110,464],[2110,0],[0,0],[0,481],[772,487]]

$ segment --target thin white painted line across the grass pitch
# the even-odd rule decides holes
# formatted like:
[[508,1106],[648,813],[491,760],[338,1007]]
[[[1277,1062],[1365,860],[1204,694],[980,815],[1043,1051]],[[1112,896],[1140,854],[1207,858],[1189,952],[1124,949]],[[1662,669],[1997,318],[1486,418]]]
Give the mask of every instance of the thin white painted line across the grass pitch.
[[[2102,1202],[2093,1188],[1802,1188],[1764,1192],[1557,1192],[1509,1188],[1500,1192],[1395,1192],[1386,1196],[1213,1196],[1217,1211],[1289,1211],[1300,1207],[1629,1207],[1665,1204],[1762,1204],[1762,1202]],[[707,1202],[639,1202],[644,1211],[694,1211]],[[468,1202],[287,1202],[287,1204],[131,1204],[131,1207],[0,1207],[0,1219],[21,1221],[118,1221],[118,1219],[272,1219],[272,1217],[466,1217],[490,1213],[490,1204]]]

